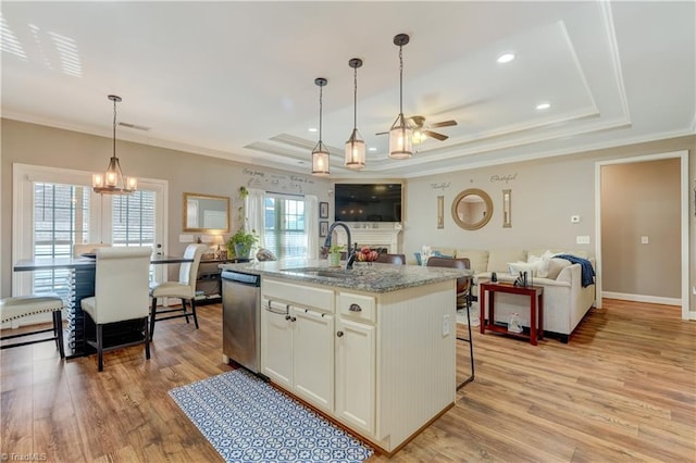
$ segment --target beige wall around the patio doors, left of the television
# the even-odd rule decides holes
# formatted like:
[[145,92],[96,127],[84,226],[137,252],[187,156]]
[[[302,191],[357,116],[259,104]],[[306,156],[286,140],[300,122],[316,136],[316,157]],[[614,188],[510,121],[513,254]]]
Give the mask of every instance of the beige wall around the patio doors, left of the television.
[[[12,120],[2,120],[1,130],[0,241],[4,252],[0,255],[0,275],[2,276],[0,293],[7,297],[11,295],[13,264],[11,255],[12,164],[101,172],[107,168],[112,139]],[[179,234],[183,233],[184,191],[229,197],[233,232],[238,227],[235,223],[237,217],[235,211],[239,204],[238,188],[243,185],[269,191],[315,195],[320,201],[330,201],[331,182],[309,174],[290,174],[122,140],[116,143],[116,154],[125,175],[169,180],[169,248],[165,248],[164,252],[172,255],[181,255],[186,247],[185,243],[178,242]],[[330,202],[333,203],[333,201]],[[170,277],[176,277],[175,266],[170,265]]]

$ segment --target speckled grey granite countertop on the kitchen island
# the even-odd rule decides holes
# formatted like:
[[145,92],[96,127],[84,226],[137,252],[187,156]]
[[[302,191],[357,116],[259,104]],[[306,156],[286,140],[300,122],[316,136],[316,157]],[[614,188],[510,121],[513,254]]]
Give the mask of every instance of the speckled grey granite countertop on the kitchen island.
[[472,274],[471,271],[458,268],[381,263],[369,265],[365,262],[357,262],[352,270],[344,270],[344,266],[345,262],[341,262],[340,267],[330,267],[325,259],[288,259],[273,262],[221,264],[220,268],[369,292],[396,291]]

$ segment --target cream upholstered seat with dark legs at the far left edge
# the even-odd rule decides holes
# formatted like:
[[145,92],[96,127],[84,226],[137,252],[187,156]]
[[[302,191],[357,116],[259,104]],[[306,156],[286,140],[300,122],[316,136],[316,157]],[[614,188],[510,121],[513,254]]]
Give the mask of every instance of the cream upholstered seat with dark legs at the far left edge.
[[0,337],[0,341],[14,339],[22,336],[36,335],[39,333],[52,331],[50,338],[41,338],[32,341],[14,342],[1,345],[0,349],[9,349],[13,347],[34,345],[37,342],[55,341],[61,359],[65,358],[65,349],[63,348],[63,300],[58,295],[49,293],[44,296],[18,296],[14,298],[4,298],[0,300],[0,323],[11,322],[24,316],[36,315],[40,313],[51,312],[53,314],[53,327],[46,329],[35,329],[33,331],[22,333],[20,335],[11,335]]

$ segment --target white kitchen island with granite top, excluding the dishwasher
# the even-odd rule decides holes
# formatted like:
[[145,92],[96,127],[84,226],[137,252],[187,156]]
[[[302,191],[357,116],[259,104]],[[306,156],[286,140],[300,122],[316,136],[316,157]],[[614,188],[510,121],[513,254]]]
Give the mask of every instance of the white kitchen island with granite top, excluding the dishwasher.
[[468,271],[286,260],[261,276],[260,373],[387,454],[456,395],[456,278]]

